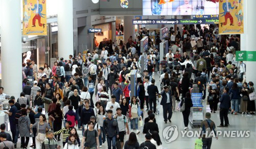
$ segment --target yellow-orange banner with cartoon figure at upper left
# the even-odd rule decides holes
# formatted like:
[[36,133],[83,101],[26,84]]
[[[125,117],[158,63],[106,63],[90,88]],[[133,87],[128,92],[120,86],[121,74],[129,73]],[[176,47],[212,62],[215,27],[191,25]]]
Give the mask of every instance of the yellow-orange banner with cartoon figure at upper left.
[[23,35],[47,35],[46,0],[23,0]]

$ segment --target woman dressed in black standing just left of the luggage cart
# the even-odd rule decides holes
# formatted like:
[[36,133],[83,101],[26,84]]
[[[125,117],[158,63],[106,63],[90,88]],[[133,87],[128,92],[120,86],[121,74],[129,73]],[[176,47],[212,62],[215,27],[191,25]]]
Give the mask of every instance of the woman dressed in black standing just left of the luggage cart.
[[188,128],[187,128],[187,126],[188,126],[188,117],[189,117],[189,114],[190,114],[190,108],[193,107],[193,103],[192,103],[189,92],[187,92],[186,97],[183,100],[181,100],[180,107],[182,107],[183,104],[185,104],[185,110],[182,112],[184,126],[185,126],[184,130],[188,130]]

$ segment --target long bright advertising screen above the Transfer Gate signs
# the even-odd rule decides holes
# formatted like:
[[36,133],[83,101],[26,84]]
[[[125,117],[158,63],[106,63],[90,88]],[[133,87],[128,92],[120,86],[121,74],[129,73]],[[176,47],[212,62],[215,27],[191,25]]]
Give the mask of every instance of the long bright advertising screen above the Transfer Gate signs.
[[143,15],[219,14],[217,0],[143,0]]

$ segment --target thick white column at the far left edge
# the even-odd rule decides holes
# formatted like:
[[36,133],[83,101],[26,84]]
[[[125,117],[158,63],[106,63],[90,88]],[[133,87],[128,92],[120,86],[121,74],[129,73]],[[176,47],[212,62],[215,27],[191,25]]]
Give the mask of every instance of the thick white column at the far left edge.
[[20,1],[2,1],[1,58],[4,93],[19,97],[22,92],[22,29]]

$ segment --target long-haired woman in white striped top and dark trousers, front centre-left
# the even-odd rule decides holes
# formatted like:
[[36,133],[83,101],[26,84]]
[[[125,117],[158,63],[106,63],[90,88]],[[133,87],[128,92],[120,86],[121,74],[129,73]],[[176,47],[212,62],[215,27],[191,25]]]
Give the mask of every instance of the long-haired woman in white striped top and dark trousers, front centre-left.
[[[105,119],[105,110],[104,110],[104,107],[102,105],[99,106],[99,112],[98,112],[98,124],[100,126],[100,135],[99,135],[99,145],[102,146],[102,143],[105,142],[106,140],[106,134],[105,132],[103,131],[103,121]],[[103,138],[102,138],[103,136]]]

